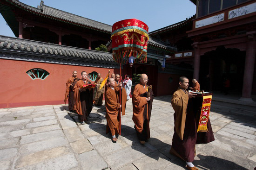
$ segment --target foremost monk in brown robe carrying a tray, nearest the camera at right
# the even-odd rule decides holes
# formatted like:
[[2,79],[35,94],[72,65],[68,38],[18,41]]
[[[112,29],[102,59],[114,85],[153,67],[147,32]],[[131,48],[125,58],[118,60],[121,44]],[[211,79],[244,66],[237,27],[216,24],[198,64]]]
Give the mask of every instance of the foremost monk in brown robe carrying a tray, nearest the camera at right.
[[174,135],[170,153],[180,157],[187,163],[188,170],[198,170],[193,164],[195,144],[206,144],[214,141],[210,121],[207,123],[208,132],[196,132],[195,109],[192,98],[196,94],[188,92],[189,79],[180,77],[179,88],[173,94],[171,103],[174,113]]

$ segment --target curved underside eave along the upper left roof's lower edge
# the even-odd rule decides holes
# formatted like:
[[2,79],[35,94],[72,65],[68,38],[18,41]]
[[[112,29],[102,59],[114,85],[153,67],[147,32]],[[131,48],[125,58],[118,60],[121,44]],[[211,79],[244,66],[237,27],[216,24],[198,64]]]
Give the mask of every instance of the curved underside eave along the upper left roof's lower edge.
[[13,1],[8,1],[8,0],[6,0],[6,1],[11,3],[11,4],[13,4],[14,6],[19,7],[20,9],[22,9],[24,11],[27,11],[29,13],[33,13],[35,15],[40,15],[40,16],[45,17],[45,18],[58,20],[58,21],[61,21],[61,22],[64,22],[64,23],[68,23],[68,24],[71,24],[71,25],[77,25],[77,26],[81,26],[81,27],[84,27],[84,28],[88,28],[88,29],[94,30],[94,31],[100,31],[100,32],[103,32],[103,33],[111,34],[111,31],[102,30],[102,29],[99,29],[99,28],[96,28],[96,27],[91,27],[91,26],[88,26],[88,25],[82,25],[82,24],[71,22],[71,21],[64,20],[64,19],[59,19],[59,18],[50,16],[50,15],[46,15],[46,14],[43,14],[43,13],[40,13],[40,12],[37,12],[37,11],[34,11],[34,10],[27,9],[26,6],[20,6],[17,3],[13,3]]

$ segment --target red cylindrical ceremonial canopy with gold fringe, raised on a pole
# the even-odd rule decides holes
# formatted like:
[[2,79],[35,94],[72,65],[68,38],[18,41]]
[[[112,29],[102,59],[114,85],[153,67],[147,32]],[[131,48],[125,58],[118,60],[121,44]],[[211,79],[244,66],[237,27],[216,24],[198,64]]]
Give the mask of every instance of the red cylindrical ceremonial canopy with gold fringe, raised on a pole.
[[112,26],[113,59],[117,63],[128,63],[135,57],[135,63],[147,62],[148,25],[138,19],[125,19]]

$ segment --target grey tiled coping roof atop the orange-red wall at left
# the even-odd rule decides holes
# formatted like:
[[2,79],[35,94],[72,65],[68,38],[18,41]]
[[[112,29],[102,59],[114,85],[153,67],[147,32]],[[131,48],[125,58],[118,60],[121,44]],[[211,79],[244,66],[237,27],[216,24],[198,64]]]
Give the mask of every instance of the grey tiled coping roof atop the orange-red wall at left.
[[63,59],[81,59],[95,62],[113,63],[112,53],[87,50],[58,44],[0,36],[0,51],[26,53],[45,57],[61,57]]

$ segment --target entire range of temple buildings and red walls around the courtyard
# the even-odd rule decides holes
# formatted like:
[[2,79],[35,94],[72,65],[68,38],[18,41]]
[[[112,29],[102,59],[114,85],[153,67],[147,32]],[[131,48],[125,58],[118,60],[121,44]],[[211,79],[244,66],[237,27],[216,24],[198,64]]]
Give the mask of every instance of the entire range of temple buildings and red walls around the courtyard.
[[[155,96],[170,95],[178,77],[196,78],[202,89],[252,101],[256,94],[256,0],[190,0],[196,14],[149,32],[148,61],[122,65],[122,77],[146,73]],[[41,0],[38,7],[0,0],[0,13],[16,38],[0,36],[0,108],[63,104],[65,83],[76,70],[94,82],[119,74],[111,53],[111,25],[67,13]],[[95,48],[107,44],[108,52]]]

